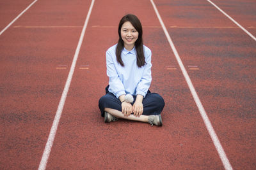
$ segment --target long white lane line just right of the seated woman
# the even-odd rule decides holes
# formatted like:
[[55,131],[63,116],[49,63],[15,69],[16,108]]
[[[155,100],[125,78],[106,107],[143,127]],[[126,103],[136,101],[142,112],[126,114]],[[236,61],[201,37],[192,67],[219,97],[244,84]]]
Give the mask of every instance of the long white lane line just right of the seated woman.
[[230,162],[229,162],[229,160],[228,160],[228,158],[226,156],[226,153],[224,152],[224,150],[223,150],[223,148],[221,146],[220,140],[218,139],[218,136],[216,135],[216,133],[215,133],[215,131],[214,131],[212,125],[211,125],[211,122],[210,122],[209,118],[207,117],[207,114],[206,114],[206,112],[204,110],[204,106],[202,105],[198,95],[196,94],[196,90],[195,90],[195,88],[194,88],[194,86],[192,84],[192,81],[190,80],[190,78],[188,76],[188,73],[187,73],[184,65],[182,64],[182,60],[179,57],[179,53],[177,52],[177,50],[176,50],[176,48],[175,48],[175,46],[174,46],[174,44],[172,42],[172,39],[170,38],[170,35],[169,35],[165,25],[164,25],[164,22],[163,22],[161,16],[159,15],[159,12],[158,12],[158,10],[156,8],[156,5],[155,5],[153,0],[150,0],[150,1],[152,3],[152,6],[154,7],[154,10],[156,12],[157,18],[158,18],[160,24],[163,27],[164,34],[166,35],[166,38],[168,39],[168,41],[170,43],[170,46],[171,46],[171,48],[173,50],[173,53],[174,53],[174,55],[175,55],[175,57],[177,59],[177,62],[179,63],[180,69],[182,70],[182,74],[183,74],[183,76],[186,79],[186,82],[188,84],[189,90],[191,91],[191,94],[192,94],[192,96],[193,96],[193,98],[195,100],[195,103],[196,103],[196,106],[198,107],[200,115],[201,115],[201,117],[204,120],[204,124],[205,124],[205,126],[207,128],[207,131],[209,132],[209,134],[211,136],[211,139],[212,139],[212,142],[214,143],[214,146],[215,146],[216,150],[218,151],[218,154],[220,156],[222,164],[225,167],[225,169],[232,169],[232,166],[231,166],[231,164],[230,164]]

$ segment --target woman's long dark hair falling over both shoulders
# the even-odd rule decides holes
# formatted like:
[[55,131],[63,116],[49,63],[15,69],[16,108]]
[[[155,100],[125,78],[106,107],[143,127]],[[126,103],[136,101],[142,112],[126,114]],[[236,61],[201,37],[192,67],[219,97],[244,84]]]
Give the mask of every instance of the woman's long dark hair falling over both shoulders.
[[137,53],[137,66],[142,67],[146,64],[144,51],[143,51],[143,39],[142,39],[143,31],[142,31],[142,26],[141,26],[139,18],[132,14],[125,15],[119,22],[119,25],[118,25],[119,39],[118,39],[118,43],[116,46],[116,60],[119,64],[121,64],[121,66],[124,67],[124,62],[121,58],[121,53],[122,53],[122,50],[124,49],[124,41],[121,36],[121,28],[122,28],[122,25],[127,21],[131,22],[132,26],[139,33],[138,39],[135,41],[135,49],[136,49],[136,53]]

